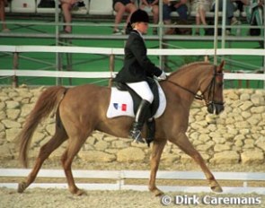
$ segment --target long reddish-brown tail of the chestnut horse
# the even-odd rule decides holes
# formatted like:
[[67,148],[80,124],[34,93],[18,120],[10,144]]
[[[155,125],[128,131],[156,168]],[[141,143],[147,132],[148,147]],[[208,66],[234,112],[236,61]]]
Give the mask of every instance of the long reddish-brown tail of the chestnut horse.
[[31,138],[40,121],[48,117],[53,109],[57,108],[59,102],[64,98],[66,88],[62,86],[50,87],[40,94],[35,107],[27,117],[22,131],[17,135],[16,140],[20,143],[19,160],[26,168],[28,166],[28,150]]

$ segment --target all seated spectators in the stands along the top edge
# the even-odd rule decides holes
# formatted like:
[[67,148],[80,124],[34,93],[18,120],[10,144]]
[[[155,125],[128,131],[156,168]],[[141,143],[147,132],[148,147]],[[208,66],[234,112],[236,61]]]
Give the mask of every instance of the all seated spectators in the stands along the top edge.
[[[0,21],[2,22],[2,31],[9,32],[5,24],[5,15],[4,15],[4,5],[9,4],[11,0],[0,0]],[[48,0],[41,0],[41,2]],[[72,22],[71,10],[76,6],[76,4],[84,4],[82,0],[58,0],[60,7],[64,14],[64,19],[66,23]],[[126,26],[130,19],[130,14],[134,13],[139,7],[142,10],[145,10],[149,15],[152,16],[154,25],[157,25],[159,21],[159,0],[140,0],[139,4],[136,4],[137,0],[112,0],[112,8],[115,12],[114,18],[114,27],[113,34],[125,34]],[[187,24],[190,13],[195,13],[195,23],[197,25],[195,29],[195,35],[200,35],[200,25],[204,25],[205,32],[204,34],[211,34],[211,30],[208,30],[208,25],[211,22],[208,22],[207,13],[215,11],[215,0],[163,0],[163,24],[166,25],[164,33],[165,34],[174,34],[174,33],[183,33],[190,34],[191,30],[180,30],[179,28],[170,28],[169,25],[172,24]],[[219,11],[223,10],[223,0],[219,0]],[[240,22],[234,16],[234,12],[239,10],[241,13],[246,13],[247,22],[250,25],[263,25],[263,7],[264,0],[227,0],[226,1],[226,16],[225,23],[227,26],[233,26],[239,24]],[[178,13],[174,20],[172,20],[172,12]],[[119,28],[124,17],[126,21],[124,22],[123,28]],[[176,22],[174,22],[176,21]],[[227,27],[227,34],[231,33],[231,28]],[[61,32],[71,33],[72,26],[67,25],[64,27],[64,30]],[[153,27],[153,34],[157,34],[157,27]],[[251,35],[260,35],[261,30],[251,29]]]

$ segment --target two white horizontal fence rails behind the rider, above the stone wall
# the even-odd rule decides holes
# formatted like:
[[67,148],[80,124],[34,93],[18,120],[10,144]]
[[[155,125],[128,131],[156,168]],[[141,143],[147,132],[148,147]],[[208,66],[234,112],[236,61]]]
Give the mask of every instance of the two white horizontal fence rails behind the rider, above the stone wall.
[[[59,46],[7,46],[3,45],[0,52],[19,54],[22,52],[48,53],[79,53],[94,55],[124,55],[124,48],[88,48],[88,47],[59,47]],[[220,49],[148,49],[150,56],[265,56],[264,49],[220,48]],[[111,59],[111,58],[110,58]],[[107,71],[107,70],[106,70]],[[110,78],[114,72],[63,72],[44,70],[2,69],[1,76],[36,76],[36,77],[72,77],[72,78]],[[226,80],[261,80],[265,74],[234,74],[225,73]]]

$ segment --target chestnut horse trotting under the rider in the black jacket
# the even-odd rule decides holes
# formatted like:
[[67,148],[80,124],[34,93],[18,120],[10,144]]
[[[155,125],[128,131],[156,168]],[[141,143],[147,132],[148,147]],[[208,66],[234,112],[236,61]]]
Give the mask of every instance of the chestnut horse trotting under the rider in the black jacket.
[[[207,62],[184,65],[177,72],[169,75],[167,80],[160,82],[167,104],[163,115],[155,119],[156,131],[150,159],[151,175],[149,180],[149,190],[155,195],[163,194],[155,186],[155,177],[166,141],[176,144],[183,152],[190,155],[204,172],[211,189],[215,192],[222,192],[221,186],[185,133],[189,124],[190,106],[195,98],[205,100],[209,113],[217,115],[224,110],[223,66],[224,62],[217,66]],[[200,91],[199,95],[198,91]],[[62,166],[70,192],[82,195],[84,192],[75,186],[71,165],[85,140],[94,130],[127,137],[133,122],[132,117],[106,117],[109,102],[110,87],[93,84],[70,89],[54,86],[43,91],[25,121],[22,132],[18,135],[20,160],[25,167],[28,165],[27,150],[31,136],[40,121],[49,116],[53,110],[57,112],[56,130],[49,142],[40,148],[34,167],[27,180],[19,184],[18,192],[22,193],[31,185],[44,160],[60,144],[68,140],[66,152],[61,158]],[[145,136],[145,133],[143,135]]]

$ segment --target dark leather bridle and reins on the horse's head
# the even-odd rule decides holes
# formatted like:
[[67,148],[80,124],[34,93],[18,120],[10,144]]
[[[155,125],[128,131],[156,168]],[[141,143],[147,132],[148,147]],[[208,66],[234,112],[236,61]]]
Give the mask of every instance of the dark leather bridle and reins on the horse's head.
[[[180,84],[178,84],[176,82],[172,82],[170,80],[166,80],[166,82],[170,82],[173,85],[181,88],[182,90],[190,92],[194,96],[194,98],[196,100],[208,100],[207,103],[206,103],[206,106],[211,106],[211,105],[224,105],[224,102],[220,102],[220,101],[215,101],[214,100],[214,97],[215,97],[215,94],[214,94],[215,91],[214,90],[215,90],[215,87],[216,87],[216,76],[223,76],[223,75],[224,75],[223,73],[217,73],[217,71],[216,71],[216,65],[215,65],[212,80],[211,80],[211,82],[209,82],[209,84],[206,87],[206,89],[201,92],[201,94],[198,94],[197,92],[194,92],[194,91],[190,91],[190,89],[187,89],[187,88],[181,86]],[[210,92],[210,93],[208,93],[208,99],[205,98],[205,93],[207,91]]]

